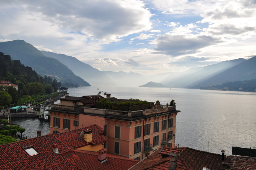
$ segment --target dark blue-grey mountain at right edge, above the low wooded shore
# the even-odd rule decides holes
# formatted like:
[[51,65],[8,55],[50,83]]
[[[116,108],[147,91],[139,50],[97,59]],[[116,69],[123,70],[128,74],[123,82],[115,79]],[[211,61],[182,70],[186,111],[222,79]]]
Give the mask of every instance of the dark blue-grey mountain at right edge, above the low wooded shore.
[[217,75],[197,84],[197,87],[210,87],[226,82],[256,79],[256,56],[245,60]]

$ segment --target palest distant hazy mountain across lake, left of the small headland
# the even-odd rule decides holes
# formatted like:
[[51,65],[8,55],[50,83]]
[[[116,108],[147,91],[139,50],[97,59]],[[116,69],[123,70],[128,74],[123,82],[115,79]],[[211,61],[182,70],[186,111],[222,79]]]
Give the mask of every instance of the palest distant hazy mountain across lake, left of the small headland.
[[146,76],[134,72],[114,72],[114,71],[102,71],[110,79],[112,79],[118,86],[139,86],[148,82]]

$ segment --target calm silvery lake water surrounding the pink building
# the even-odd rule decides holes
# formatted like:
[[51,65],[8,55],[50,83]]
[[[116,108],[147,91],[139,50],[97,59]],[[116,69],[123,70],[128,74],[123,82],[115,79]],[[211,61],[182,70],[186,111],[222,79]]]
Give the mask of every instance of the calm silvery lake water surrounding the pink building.
[[[180,147],[231,155],[232,146],[256,147],[256,93],[234,91],[212,91],[184,88],[146,88],[120,86],[91,86],[69,88],[70,96],[97,95],[105,91],[111,97],[139,98],[150,102],[160,101],[166,105],[176,100],[177,115],[176,143]],[[59,103],[59,101],[55,102]],[[15,120],[12,121],[13,123]],[[24,123],[24,125],[22,124]],[[38,119],[22,119],[16,124],[33,125],[25,134],[36,137],[37,131],[49,133],[49,122]],[[43,130],[42,130],[42,129]]]

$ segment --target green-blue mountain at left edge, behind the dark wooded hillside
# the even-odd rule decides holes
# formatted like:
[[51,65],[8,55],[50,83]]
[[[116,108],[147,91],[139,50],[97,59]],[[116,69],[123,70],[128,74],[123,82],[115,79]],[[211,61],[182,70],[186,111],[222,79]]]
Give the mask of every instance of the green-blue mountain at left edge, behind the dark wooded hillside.
[[60,82],[91,86],[60,61],[44,56],[33,45],[23,40],[0,42],[0,52],[12,56],[13,60],[20,60],[22,64],[32,67],[39,75],[48,75]]

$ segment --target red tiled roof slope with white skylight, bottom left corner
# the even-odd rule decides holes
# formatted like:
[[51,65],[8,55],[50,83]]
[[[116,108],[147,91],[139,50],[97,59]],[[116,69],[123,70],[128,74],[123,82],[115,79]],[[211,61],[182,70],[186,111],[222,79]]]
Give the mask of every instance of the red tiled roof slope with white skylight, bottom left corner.
[[[59,155],[53,152],[53,144],[58,145]],[[23,147],[33,146],[38,155],[30,156]],[[77,167],[68,162],[63,156],[73,152],[71,148],[59,141],[54,135],[45,135],[14,143],[0,145],[0,169],[74,169]]]

